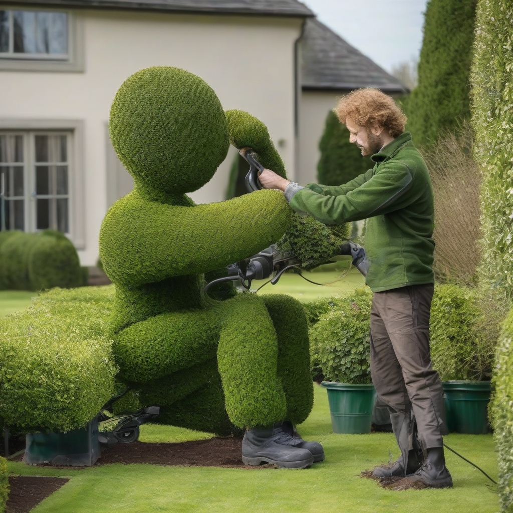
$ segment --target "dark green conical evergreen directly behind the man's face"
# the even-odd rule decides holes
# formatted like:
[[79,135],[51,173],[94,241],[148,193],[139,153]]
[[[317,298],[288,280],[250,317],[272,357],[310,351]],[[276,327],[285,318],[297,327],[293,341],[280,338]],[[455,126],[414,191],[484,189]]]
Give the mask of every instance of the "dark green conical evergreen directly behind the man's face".
[[367,157],[362,157],[355,144],[349,142],[349,130],[332,110],[326,117],[319,149],[317,181],[323,185],[343,185],[373,165]]

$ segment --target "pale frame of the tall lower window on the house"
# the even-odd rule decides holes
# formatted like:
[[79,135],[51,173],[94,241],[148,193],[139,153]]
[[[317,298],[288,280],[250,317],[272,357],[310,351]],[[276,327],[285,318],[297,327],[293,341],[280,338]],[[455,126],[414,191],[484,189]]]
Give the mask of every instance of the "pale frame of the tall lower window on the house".
[[[76,249],[85,249],[83,148],[84,122],[82,120],[7,120],[0,119],[0,131],[24,135],[25,231],[36,231],[35,218],[35,149],[34,135],[69,134],[68,143],[68,238]],[[29,205],[33,203],[34,205]]]

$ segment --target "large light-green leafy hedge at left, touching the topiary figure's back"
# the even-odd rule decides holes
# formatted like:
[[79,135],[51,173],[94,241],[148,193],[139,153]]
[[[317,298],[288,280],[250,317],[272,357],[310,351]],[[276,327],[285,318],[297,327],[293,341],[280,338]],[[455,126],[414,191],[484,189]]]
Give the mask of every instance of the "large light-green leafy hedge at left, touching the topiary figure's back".
[[113,286],[41,294],[0,319],[0,418],[18,431],[83,427],[112,396]]

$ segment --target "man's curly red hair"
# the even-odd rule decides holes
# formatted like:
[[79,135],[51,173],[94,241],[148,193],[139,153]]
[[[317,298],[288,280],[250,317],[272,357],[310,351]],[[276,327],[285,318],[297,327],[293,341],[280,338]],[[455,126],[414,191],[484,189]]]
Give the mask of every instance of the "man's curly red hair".
[[346,118],[359,126],[374,124],[383,127],[392,137],[404,132],[406,116],[390,96],[373,87],[357,89],[342,96],[334,109],[339,121],[345,125]]

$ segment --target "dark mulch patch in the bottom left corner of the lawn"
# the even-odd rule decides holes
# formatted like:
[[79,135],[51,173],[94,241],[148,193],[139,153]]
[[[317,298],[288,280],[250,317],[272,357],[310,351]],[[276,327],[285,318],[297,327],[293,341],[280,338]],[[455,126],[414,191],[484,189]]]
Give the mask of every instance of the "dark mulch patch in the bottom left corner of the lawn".
[[42,476],[9,477],[7,513],[28,513],[68,481],[66,478]]

